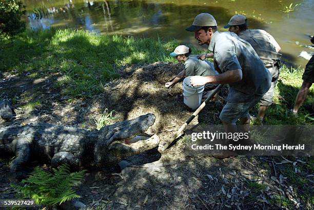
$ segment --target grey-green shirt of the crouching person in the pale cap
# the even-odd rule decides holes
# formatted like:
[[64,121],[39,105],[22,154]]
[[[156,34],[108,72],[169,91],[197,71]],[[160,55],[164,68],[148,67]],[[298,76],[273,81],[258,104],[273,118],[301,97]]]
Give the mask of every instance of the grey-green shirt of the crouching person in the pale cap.
[[[212,63],[206,60],[202,61],[201,59],[198,59],[197,55],[190,55],[184,65],[186,77],[196,75],[206,77],[218,74]],[[208,83],[206,86],[208,88],[212,88],[215,85]]]

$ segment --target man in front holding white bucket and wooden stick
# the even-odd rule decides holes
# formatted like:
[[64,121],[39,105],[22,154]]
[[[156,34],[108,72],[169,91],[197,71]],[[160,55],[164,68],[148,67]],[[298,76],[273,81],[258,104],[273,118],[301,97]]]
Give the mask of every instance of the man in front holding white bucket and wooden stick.
[[243,124],[243,131],[248,132],[248,111],[269,89],[271,74],[248,42],[235,33],[218,32],[217,22],[211,14],[197,15],[186,30],[194,32],[199,45],[209,45],[208,50],[214,56],[215,70],[220,72],[207,77],[194,76],[191,84],[229,84],[227,104],[219,117],[226,132],[237,132],[235,123],[238,120]]

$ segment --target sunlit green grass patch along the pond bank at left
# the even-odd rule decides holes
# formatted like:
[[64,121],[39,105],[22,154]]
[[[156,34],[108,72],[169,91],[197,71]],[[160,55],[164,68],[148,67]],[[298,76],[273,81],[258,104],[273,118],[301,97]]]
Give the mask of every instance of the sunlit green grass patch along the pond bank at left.
[[80,30],[27,30],[12,42],[0,42],[0,71],[34,79],[58,72],[63,76],[55,86],[62,94],[91,97],[119,77],[116,69],[123,65],[174,61],[168,55],[177,45]]

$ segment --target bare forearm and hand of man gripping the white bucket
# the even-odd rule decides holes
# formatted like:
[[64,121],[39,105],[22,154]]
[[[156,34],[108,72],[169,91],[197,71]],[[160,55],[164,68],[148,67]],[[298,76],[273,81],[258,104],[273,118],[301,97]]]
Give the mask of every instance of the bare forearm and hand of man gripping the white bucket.
[[207,77],[194,76],[191,78],[191,84],[193,86],[205,85],[206,83],[214,84],[229,84],[239,82],[242,80],[242,70],[234,69],[229,70],[218,75],[212,75]]

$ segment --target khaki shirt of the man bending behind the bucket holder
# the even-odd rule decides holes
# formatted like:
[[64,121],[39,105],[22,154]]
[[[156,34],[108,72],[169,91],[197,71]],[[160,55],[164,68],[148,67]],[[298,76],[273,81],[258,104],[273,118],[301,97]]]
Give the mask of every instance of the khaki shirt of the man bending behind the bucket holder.
[[276,47],[280,48],[280,46],[272,35],[266,31],[250,29],[242,31],[238,36],[251,44],[263,61],[264,66],[271,66],[280,61],[282,54],[276,52]]

